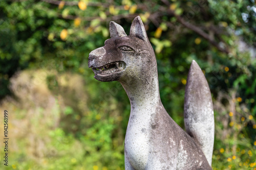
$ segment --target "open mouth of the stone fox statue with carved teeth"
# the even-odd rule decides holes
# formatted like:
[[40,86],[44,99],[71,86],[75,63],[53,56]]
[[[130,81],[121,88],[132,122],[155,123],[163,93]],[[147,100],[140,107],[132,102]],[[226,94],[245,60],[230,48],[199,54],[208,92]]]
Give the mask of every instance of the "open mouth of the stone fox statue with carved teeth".
[[118,61],[118,62],[113,62],[109,63],[106,65],[103,65],[101,67],[92,67],[93,72],[95,75],[111,75],[117,72],[122,72],[125,70],[125,62],[123,61]]

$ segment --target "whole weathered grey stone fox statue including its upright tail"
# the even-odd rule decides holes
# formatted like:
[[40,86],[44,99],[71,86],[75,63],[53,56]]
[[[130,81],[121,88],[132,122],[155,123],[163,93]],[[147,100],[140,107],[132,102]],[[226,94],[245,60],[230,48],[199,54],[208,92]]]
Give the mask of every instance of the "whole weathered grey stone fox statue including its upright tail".
[[110,22],[111,38],[89,55],[94,78],[119,81],[129,96],[131,114],[124,142],[125,169],[211,169],[214,112],[202,70],[193,61],[186,84],[186,132],[164,109],[157,62],[140,17],[127,36]]

